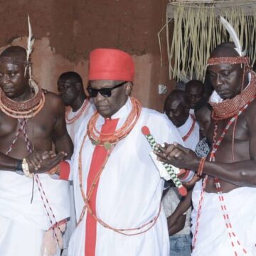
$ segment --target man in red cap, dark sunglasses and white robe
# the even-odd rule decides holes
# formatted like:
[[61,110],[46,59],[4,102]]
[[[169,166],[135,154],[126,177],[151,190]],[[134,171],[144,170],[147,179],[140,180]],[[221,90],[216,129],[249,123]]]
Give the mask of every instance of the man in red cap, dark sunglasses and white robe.
[[[90,53],[87,90],[97,114],[75,138],[69,178],[79,224],[70,239],[69,256],[169,256],[161,210],[164,181],[149,156],[152,149],[142,127],[149,127],[156,142],[182,140],[164,114],[141,108],[129,97],[133,79],[134,63],[127,53]],[[106,154],[103,159],[99,151]]]

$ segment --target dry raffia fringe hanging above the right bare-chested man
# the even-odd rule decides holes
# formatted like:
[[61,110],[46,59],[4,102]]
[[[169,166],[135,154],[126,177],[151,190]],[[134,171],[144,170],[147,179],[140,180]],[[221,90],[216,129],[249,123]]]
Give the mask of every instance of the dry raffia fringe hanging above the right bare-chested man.
[[[247,55],[250,56],[251,63],[255,63],[256,1],[242,1],[242,4],[241,1],[233,1],[233,3],[232,1],[214,2],[218,2],[219,6],[201,3],[181,4],[178,2],[169,4],[165,27],[167,28],[170,79],[204,79],[206,61],[210,52],[219,43],[231,41],[220,23],[220,15],[233,25],[240,37],[242,46],[247,50]],[[172,17],[170,17],[170,5]],[[170,22],[174,23],[172,40],[169,38]]]

